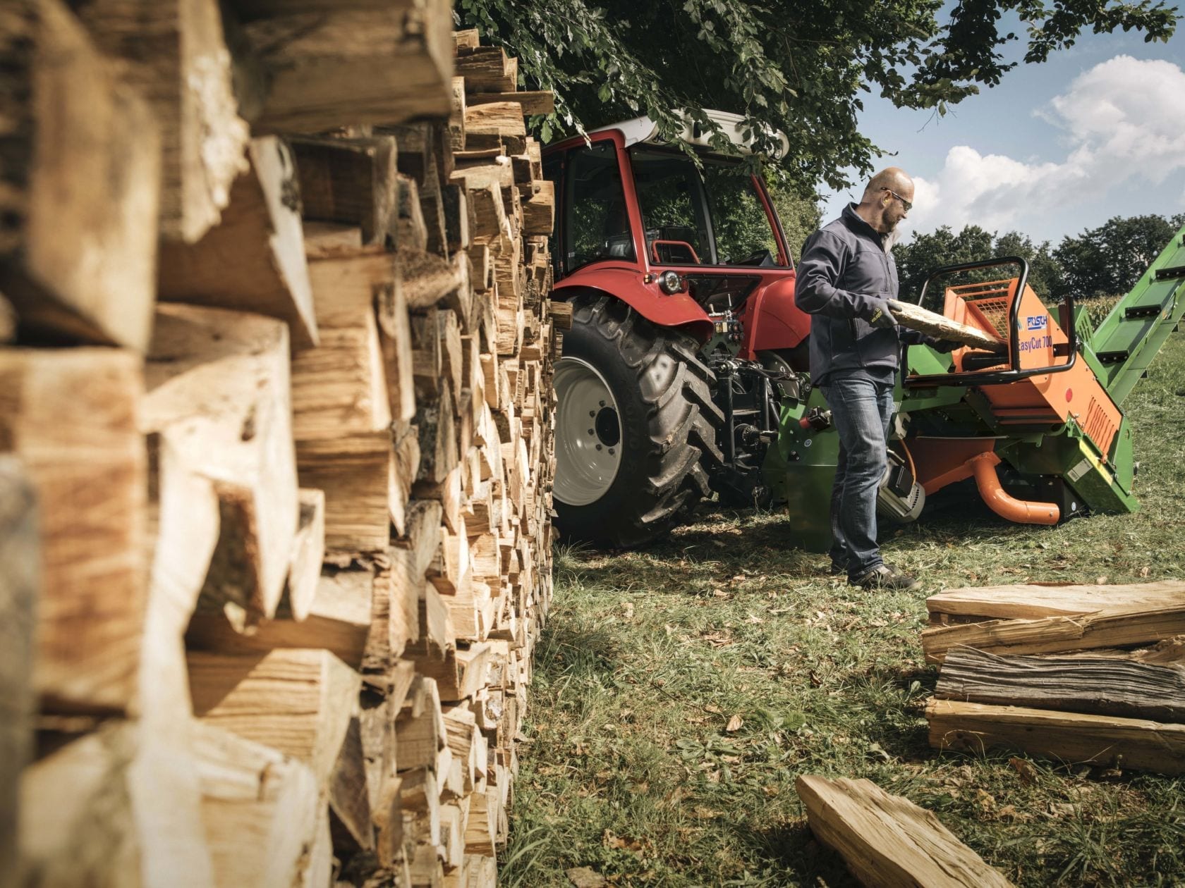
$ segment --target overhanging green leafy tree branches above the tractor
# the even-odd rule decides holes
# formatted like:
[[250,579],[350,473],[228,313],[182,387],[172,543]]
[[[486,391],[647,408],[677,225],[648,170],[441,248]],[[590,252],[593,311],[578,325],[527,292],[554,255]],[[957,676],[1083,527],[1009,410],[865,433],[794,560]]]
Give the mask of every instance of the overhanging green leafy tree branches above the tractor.
[[[876,144],[859,131],[863,96],[937,114],[992,86],[1017,62],[1039,63],[1087,30],[1136,30],[1167,40],[1179,15],[1162,0],[459,0],[459,25],[519,58],[524,85],[556,94],[556,112],[533,120],[546,142],[646,114],[668,133],[677,109],[745,115],[760,144],[781,129],[780,168],[813,189],[850,185],[871,169]],[[1021,38],[1001,17],[1019,20]],[[1017,46],[1019,49],[1019,46]],[[722,139],[722,147],[723,137]],[[762,141],[763,140],[763,141]]]

